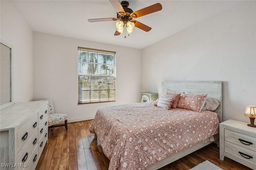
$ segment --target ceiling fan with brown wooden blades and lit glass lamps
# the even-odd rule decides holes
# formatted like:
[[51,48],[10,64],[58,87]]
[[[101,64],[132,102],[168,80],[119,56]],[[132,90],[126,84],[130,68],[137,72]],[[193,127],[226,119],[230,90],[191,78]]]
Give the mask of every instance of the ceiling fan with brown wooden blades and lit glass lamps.
[[134,20],[135,18],[139,18],[141,16],[145,16],[151,14],[153,12],[157,12],[162,10],[162,5],[157,3],[136,12],[133,12],[132,9],[128,8],[129,2],[119,0],[109,0],[112,6],[116,9],[117,17],[116,18],[98,18],[98,19],[90,19],[89,22],[100,22],[100,21],[118,21],[116,23],[116,32],[114,35],[120,35],[123,33],[124,27],[126,27],[126,31],[128,35],[134,31],[134,27],[142,29],[143,31],[150,31],[151,27],[140,23],[139,21]]

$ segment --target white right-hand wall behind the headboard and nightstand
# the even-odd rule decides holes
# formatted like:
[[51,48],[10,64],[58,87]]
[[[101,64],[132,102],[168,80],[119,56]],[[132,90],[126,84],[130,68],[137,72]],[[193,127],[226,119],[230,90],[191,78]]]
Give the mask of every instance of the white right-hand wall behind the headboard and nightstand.
[[142,91],[164,80],[223,81],[223,121],[250,122],[256,105],[256,1],[180,31],[142,50]]

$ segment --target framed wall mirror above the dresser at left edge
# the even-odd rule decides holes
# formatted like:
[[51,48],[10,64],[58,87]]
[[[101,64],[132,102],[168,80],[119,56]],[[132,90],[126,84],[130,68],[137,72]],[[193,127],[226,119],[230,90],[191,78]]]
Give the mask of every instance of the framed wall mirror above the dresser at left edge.
[[12,47],[0,43],[0,108],[12,105]]

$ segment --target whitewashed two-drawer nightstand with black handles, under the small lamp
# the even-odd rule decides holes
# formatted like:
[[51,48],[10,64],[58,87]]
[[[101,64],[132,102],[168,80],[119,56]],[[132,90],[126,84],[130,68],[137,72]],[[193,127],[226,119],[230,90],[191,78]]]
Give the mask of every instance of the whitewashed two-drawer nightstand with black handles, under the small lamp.
[[220,160],[224,156],[256,170],[256,128],[228,120],[220,123]]

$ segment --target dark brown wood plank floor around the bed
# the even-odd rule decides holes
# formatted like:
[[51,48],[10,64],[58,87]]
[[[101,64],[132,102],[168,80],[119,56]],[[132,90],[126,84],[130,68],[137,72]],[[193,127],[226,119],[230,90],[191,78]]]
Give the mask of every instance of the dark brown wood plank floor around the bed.
[[[65,127],[54,127],[49,130],[46,144],[36,170],[108,170],[106,158],[89,127],[92,120],[68,123]],[[219,148],[212,143],[197,150],[160,170],[189,170],[208,160],[224,170],[251,170],[229,158],[219,159]]]

